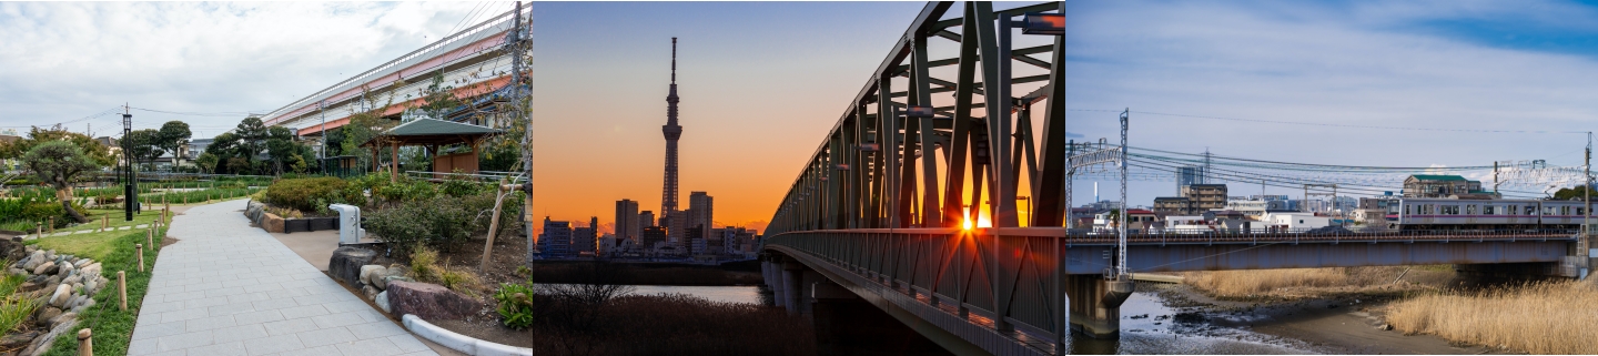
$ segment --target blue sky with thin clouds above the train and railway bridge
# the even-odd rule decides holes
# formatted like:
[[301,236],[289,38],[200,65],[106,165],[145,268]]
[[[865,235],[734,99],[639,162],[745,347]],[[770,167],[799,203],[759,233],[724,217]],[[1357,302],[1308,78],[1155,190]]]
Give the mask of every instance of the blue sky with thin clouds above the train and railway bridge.
[[[1114,113],[1090,110],[1130,107],[1133,145],[1178,152],[1358,166],[1580,164],[1584,134],[1445,129],[1598,126],[1592,3],[1071,2],[1067,11],[1067,126],[1087,137],[1119,129]],[[1175,190],[1131,187],[1135,204]]]

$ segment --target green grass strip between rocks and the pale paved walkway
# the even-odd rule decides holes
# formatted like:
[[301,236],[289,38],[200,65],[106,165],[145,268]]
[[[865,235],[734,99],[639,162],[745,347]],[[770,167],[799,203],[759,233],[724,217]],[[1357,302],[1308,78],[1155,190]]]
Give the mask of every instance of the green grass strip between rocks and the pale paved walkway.
[[[50,356],[74,356],[74,354],[78,354],[78,340],[77,340],[75,335],[81,329],[93,329],[93,334],[94,334],[94,354],[101,354],[101,356],[104,356],[104,354],[128,354],[128,343],[133,338],[133,326],[139,319],[139,307],[144,305],[144,294],[149,291],[150,275],[155,271],[155,268],[153,268],[155,267],[155,259],[157,259],[157,255],[160,255],[161,235],[165,235],[165,228],[161,228],[161,230],[163,231],[158,231],[158,235],[155,238],[155,246],[147,246],[145,251],[144,251],[144,254],[145,254],[144,255],[144,259],[145,259],[145,262],[144,262],[145,263],[144,265],[145,271],[144,273],[139,273],[139,267],[137,267],[139,259],[137,259],[137,254],[134,252],[134,247],[133,247],[133,244],[142,244],[144,243],[144,238],[145,238],[144,230],[115,231],[115,233],[120,233],[120,235],[115,235],[115,238],[97,239],[97,241],[104,241],[102,244],[105,246],[105,249],[104,249],[105,254],[101,255],[101,257],[97,257],[97,259],[96,257],[91,257],[91,259],[99,260],[105,279],[110,279],[110,286],[105,286],[99,292],[94,294],[94,307],[89,307],[88,310],[83,310],[83,313],[78,314],[78,326],[74,327],[70,332],[62,334],[61,337],[58,337],[56,343],[51,345],[50,351],[45,353],[45,354],[50,354]],[[85,235],[85,236],[89,236],[89,235]],[[77,238],[77,236],[72,236],[72,238]],[[51,238],[45,238],[45,239],[50,241]],[[67,239],[67,238],[59,238],[59,239]],[[38,241],[38,239],[34,239],[34,241]],[[40,246],[43,247],[45,244],[40,243]],[[75,246],[86,247],[86,246],[89,246],[89,241],[81,241],[80,244],[75,244]],[[56,249],[56,252],[62,252],[62,251]],[[118,302],[117,302],[117,271],[128,271],[126,273],[128,275],[128,310],[126,311],[118,310]]]

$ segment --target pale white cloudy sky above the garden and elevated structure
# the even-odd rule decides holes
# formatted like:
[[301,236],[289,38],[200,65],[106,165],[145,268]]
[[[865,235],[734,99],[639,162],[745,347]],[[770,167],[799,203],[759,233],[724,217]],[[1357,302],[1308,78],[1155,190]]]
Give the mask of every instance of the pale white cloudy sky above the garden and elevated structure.
[[[500,5],[484,8],[510,11]],[[177,112],[276,109],[447,35],[475,6],[0,3],[0,126],[67,121],[123,102]],[[147,112],[134,120],[185,120],[206,134],[238,121]],[[117,118],[70,128],[85,123],[112,126]]]

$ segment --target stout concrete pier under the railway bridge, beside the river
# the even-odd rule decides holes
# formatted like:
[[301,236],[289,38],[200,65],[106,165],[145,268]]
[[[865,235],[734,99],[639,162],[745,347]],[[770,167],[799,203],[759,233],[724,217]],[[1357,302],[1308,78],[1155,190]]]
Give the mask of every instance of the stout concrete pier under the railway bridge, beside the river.
[[1131,297],[1130,278],[1104,279],[1101,275],[1066,275],[1071,303],[1071,332],[1091,338],[1120,337],[1120,303]]

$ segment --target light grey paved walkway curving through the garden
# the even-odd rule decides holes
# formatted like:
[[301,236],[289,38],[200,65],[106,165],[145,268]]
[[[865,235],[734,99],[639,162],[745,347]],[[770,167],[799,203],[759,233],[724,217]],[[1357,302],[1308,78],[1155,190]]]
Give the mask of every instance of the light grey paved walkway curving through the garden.
[[128,354],[436,354],[267,231],[244,200],[174,217]]

